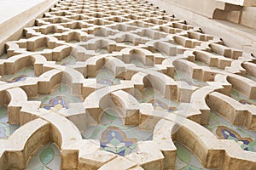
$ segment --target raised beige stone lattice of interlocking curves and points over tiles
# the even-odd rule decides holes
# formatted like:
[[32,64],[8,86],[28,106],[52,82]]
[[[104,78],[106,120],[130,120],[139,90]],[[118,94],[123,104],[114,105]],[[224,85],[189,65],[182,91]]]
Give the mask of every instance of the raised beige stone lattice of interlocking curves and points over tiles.
[[[61,169],[177,169],[176,143],[206,168],[256,169],[254,139],[230,129],[256,134],[251,54],[137,0],[60,1],[24,35],[0,59],[1,131],[13,129],[0,140],[1,169],[26,168],[49,142]],[[231,127],[209,130],[212,112]],[[106,113],[151,138],[114,121],[103,139],[87,138]]]

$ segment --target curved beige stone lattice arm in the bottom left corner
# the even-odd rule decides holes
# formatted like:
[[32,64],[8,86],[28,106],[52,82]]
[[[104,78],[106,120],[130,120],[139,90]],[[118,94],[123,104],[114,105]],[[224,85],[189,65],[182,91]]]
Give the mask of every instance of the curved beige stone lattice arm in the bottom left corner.
[[0,167],[2,169],[25,169],[26,162],[32,153],[47,142],[49,142],[49,122],[36,119],[26,123],[9,139],[1,139]]

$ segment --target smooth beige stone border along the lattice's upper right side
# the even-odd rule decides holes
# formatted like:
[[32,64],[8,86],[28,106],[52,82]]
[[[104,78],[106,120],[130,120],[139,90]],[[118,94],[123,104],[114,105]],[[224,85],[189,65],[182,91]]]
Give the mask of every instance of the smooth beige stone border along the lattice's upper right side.
[[[193,11],[195,5],[187,5],[189,3],[184,3],[181,6],[178,3],[172,3],[174,1],[170,2],[167,0],[149,0],[148,2],[165,9],[166,12],[175,14],[183,20],[187,20],[188,23],[192,25],[200,26],[206,33],[222,37],[225,40],[225,44],[230,47],[239,48],[256,55],[255,26],[252,28],[253,23],[255,23],[253,21],[255,19],[255,17],[253,17],[255,7],[244,7],[243,12],[238,16],[236,15],[236,20],[239,20],[239,16],[242,18],[240,25],[227,20],[209,20],[204,14],[198,14],[198,11],[201,10]],[[235,6],[235,8],[237,8],[237,6]],[[226,18],[229,17],[229,13],[220,15],[225,15]],[[230,14],[230,16],[232,16],[232,14]],[[230,37],[230,33],[232,33],[232,37]]]

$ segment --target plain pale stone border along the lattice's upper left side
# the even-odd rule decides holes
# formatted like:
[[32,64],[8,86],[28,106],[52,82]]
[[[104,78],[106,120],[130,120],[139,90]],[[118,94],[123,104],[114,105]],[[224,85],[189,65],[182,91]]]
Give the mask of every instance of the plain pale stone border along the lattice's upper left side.
[[[42,16],[45,10],[48,10],[56,1],[50,0],[32,0],[29,2],[1,2],[1,18],[0,18],[0,47],[1,53],[4,51],[4,43],[9,40],[15,40],[22,36],[22,28],[24,26],[32,26],[33,20],[38,16]],[[13,10],[9,10],[12,8]],[[6,28],[9,29],[6,29]]]

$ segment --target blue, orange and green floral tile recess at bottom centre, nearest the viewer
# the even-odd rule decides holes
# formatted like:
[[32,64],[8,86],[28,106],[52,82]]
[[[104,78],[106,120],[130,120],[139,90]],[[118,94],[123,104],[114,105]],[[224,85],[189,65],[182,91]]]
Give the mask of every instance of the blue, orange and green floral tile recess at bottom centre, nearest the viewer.
[[125,126],[115,111],[108,110],[102,115],[102,122],[88,127],[82,136],[100,139],[102,150],[125,156],[137,151],[137,141],[152,139],[152,132]]

